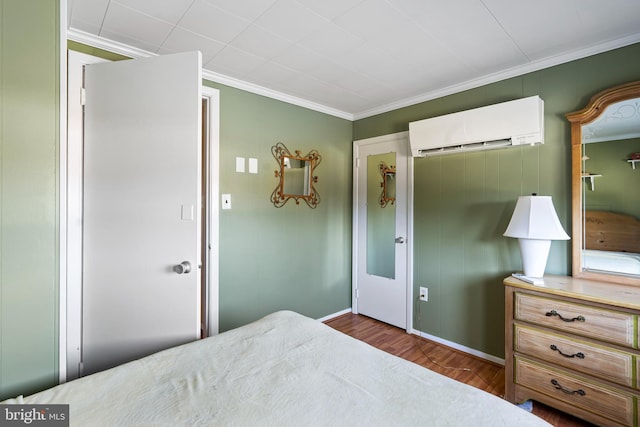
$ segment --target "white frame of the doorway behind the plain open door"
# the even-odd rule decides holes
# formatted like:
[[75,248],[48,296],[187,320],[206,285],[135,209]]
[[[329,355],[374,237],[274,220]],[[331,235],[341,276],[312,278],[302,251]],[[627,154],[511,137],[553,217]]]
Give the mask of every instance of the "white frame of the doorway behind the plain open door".
[[[68,89],[70,103],[74,99],[81,99],[82,67],[86,64],[105,62],[105,59],[95,56],[68,51]],[[207,245],[209,263],[209,289],[207,308],[209,335],[218,333],[218,260],[219,260],[219,156],[220,156],[220,92],[207,86],[202,87],[202,96],[209,99],[209,129],[207,142],[209,144],[207,159],[210,165],[209,181],[209,232]],[[76,105],[77,104],[77,105]],[[80,103],[73,103],[67,109],[67,135],[60,142],[61,152],[66,153],[65,164],[61,166],[60,175],[66,186],[61,188],[64,194],[65,206],[61,206],[61,240],[60,259],[64,261],[66,280],[60,281],[60,317],[59,317],[59,379],[65,382],[68,377],[77,375],[68,373],[68,366],[78,366],[82,343],[82,108]],[[66,144],[65,144],[66,141]],[[61,180],[62,181],[62,180]],[[61,198],[62,199],[62,198]],[[204,261],[204,260],[203,260]],[[62,268],[61,268],[62,269]]]

